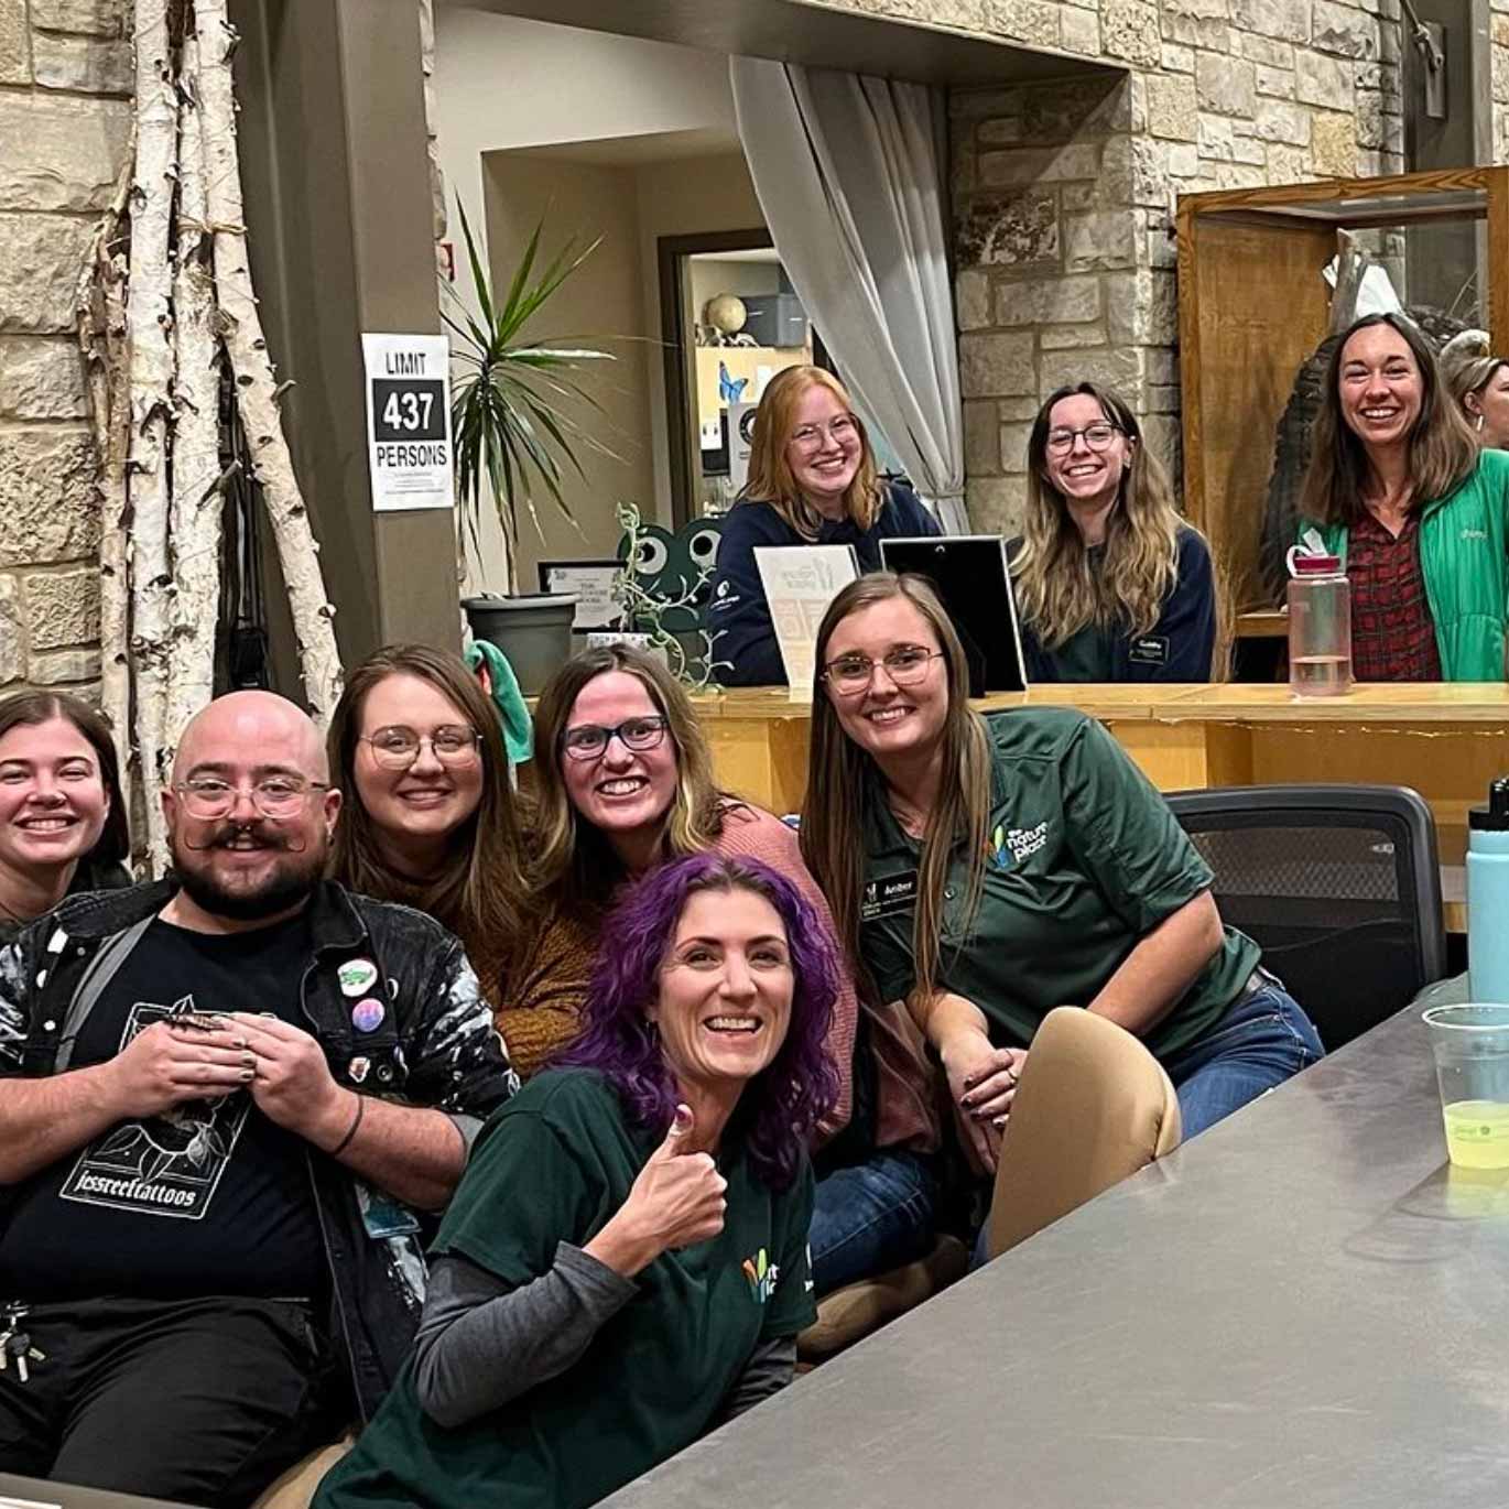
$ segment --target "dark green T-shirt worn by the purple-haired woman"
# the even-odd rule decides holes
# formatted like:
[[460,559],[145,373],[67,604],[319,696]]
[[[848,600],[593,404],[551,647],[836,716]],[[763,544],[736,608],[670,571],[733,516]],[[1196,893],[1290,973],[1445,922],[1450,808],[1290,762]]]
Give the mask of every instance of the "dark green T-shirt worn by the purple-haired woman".
[[[551,1268],[557,1242],[582,1245],[607,1224],[659,1141],[628,1121],[601,1074],[539,1074],[483,1129],[435,1252],[527,1284]],[[650,1263],[573,1366],[453,1431],[420,1409],[406,1367],[320,1503],[573,1509],[696,1441],[754,1348],[816,1320],[810,1168],[782,1192],[736,1150],[718,1168],[723,1231]]]

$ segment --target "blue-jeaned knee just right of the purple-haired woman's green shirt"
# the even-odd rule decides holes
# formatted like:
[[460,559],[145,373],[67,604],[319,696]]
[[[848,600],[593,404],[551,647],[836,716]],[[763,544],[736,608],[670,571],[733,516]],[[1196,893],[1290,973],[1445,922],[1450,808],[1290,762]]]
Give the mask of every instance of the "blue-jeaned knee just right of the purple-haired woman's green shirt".
[[816,1296],[925,1257],[936,1203],[933,1159],[899,1148],[819,1179],[810,1236]]

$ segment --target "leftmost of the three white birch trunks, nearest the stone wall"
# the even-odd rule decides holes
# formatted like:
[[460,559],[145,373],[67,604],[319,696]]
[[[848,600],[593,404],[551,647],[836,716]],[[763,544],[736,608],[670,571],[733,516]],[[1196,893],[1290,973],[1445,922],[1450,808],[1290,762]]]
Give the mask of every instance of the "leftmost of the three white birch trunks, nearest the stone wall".
[[167,38],[167,0],[136,5],[136,181],[131,186],[130,545],[131,659],[136,747],[146,794],[151,866],[166,863],[167,831],[157,797],[167,779],[163,738],[172,575],[167,561],[167,420],[172,410],[174,330],[167,247],[178,177],[178,109]]

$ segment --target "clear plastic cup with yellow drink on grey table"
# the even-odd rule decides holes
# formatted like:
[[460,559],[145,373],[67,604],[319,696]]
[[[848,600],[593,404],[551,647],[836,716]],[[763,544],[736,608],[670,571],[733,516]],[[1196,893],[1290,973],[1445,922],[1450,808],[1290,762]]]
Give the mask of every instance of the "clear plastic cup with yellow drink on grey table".
[[1446,1121],[1459,1168],[1509,1168],[1509,1005],[1424,1013]]

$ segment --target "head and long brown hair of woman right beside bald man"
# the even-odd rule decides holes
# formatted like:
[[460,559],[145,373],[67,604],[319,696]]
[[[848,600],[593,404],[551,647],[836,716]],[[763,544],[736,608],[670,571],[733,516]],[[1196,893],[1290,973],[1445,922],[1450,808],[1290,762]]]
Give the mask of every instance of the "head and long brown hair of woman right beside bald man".
[[346,797],[332,878],[450,928],[496,1002],[524,877],[509,756],[481,687],[456,655],[388,646],[347,678],[327,745]]

